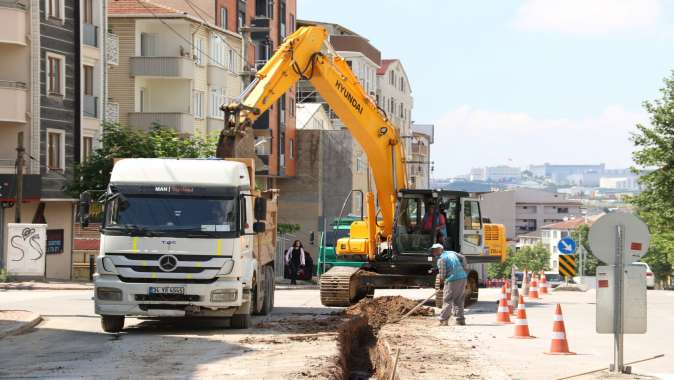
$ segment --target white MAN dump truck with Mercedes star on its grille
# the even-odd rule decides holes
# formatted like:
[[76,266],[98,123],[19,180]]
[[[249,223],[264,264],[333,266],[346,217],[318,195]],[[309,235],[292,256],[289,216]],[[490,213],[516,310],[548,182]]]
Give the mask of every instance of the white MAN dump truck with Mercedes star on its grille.
[[247,328],[274,305],[276,197],[255,190],[252,160],[116,162],[103,203],[95,309],[106,332],[125,316],[222,317]]

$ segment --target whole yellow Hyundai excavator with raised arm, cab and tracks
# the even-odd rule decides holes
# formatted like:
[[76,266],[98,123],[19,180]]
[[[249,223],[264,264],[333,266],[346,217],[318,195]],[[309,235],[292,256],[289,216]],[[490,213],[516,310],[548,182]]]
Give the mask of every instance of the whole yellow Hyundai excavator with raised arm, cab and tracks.
[[[288,36],[239,99],[222,106],[225,128],[218,157],[233,156],[253,122],[300,79],[311,82],[362,146],[377,190],[377,202],[368,192],[366,216],[354,221],[349,236],[336,243],[344,265],[322,275],[324,305],[348,306],[372,296],[375,289],[442,286],[429,250],[435,242],[464,254],[469,264],[501,259],[505,230],[483,223],[477,199],[460,191],[408,188],[400,136],[332,49],[324,28],[302,27]],[[477,298],[479,271],[471,266],[467,303]]]

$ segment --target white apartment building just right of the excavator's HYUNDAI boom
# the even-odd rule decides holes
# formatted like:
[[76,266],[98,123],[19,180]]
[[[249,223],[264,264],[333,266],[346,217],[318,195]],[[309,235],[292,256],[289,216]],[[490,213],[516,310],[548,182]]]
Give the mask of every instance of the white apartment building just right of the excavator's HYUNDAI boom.
[[[412,88],[405,68],[398,59],[382,59],[377,70],[377,104],[402,138],[405,156],[412,155]],[[414,169],[407,165],[407,171]]]

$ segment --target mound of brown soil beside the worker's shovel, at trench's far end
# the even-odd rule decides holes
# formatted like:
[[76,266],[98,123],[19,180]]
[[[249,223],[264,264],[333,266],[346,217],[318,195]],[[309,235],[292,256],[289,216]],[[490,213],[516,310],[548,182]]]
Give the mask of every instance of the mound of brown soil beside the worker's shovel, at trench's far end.
[[[401,296],[365,298],[347,308],[348,316],[365,316],[368,324],[376,331],[385,323],[395,322],[417,306],[418,301]],[[412,315],[433,315],[433,309],[420,307]]]

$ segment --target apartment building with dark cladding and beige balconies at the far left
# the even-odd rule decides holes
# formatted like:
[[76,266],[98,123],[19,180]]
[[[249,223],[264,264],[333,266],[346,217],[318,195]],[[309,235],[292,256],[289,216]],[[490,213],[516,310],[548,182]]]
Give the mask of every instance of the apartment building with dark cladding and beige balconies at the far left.
[[[0,261],[7,223],[45,223],[51,279],[71,277],[76,199],[63,189],[100,136],[105,21],[105,6],[95,0],[0,2]],[[17,147],[25,150],[20,218]]]

